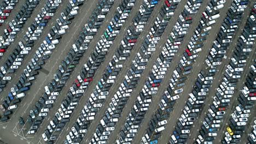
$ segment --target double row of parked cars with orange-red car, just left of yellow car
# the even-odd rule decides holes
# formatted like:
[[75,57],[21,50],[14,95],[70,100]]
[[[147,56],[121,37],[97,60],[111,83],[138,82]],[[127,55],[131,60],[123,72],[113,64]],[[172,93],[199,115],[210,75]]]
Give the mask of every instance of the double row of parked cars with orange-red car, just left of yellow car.
[[[235,3],[236,5],[239,5],[239,3],[237,3],[236,1],[234,1],[233,3]],[[231,57],[231,61],[229,65],[227,65],[222,82],[220,82],[220,85],[217,88],[216,96],[213,97],[213,100],[214,100],[213,104],[210,105],[210,109],[208,109],[207,117],[205,118],[205,121],[203,121],[203,125],[201,127],[202,130],[200,130],[200,136],[203,137],[205,141],[211,142],[213,141],[214,136],[217,136],[217,133],[216,133],[217,128],[220,127],[220,122],[224,117],[223,115],[225,115],[225,109],[230,104],[230,99],[234,94],[236,83],[238,82],[238,79],[240,79],[241,77],[243,67],[245,67],[246,58],[248,57],[249,52],[243,51],[243,49],[247,49],[247,46],[251,45],[246,42],[249,39],[249,35],[252,35],[254,33],[253,27],[255,27],[255,23],[252,21],[253,15],[254,13],[251,13],[251,15],[248,17],[245,29],[243,30],[242,35],[238,39],[236,49],[234,50],[234,55],[233,57]],[[227,24],[225,20],[224,20],[224,23]],[[232,23],[231,22],[229,23],[230,23],[229,26],[232,26]],[[223,37],[226,37],[226,35],[223,35]],[[245,38],[245,40],[242,40],[243,37]],[[247,93],[249,91],[254,91],[254,90],[253,89],[249,90],[248,88],[246,88],[245,91]],[[253,99],[254,99],[253,97],[248,97],[248,100],[253,100]],[[253,102],[249,102],[246,104],[246,110],[251,109],[253,107],[252,103]],[[242,114],[242,115],[247,117],[249,116],[248,113],[250,112],[247,111],[246,114]],[[241,125],[244,125],[244,124],[245,122],[235,123],[236,127],[240,127]],[[214,128],[213,131],[210,131],[210,129],[212,130],[212,128]],[[226,136],[228,136],[228,134]],[[196,141],[197,143],[202,142],[201,140],[196,140]],[[238,141],[239,140],[236,140],[236,139],[232,140],[228,136],[223,142],[230,143],[230,142],[238,142]]]

